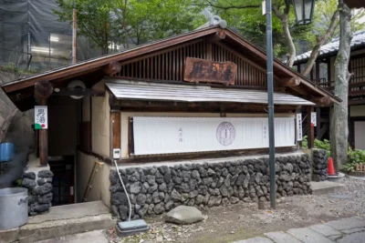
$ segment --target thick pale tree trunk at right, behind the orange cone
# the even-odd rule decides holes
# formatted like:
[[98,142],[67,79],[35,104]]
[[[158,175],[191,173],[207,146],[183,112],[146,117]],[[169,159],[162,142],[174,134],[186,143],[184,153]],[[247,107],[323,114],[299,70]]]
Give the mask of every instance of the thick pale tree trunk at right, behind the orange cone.
[[352,39],[351,11],[339,0],[339,53],[335,62],[335,95],[342,102],[334,105],[331,116],[330,144],[331,155],[337,170],[347,163],[348,151],[348,101],[349,101],[349,54]]

